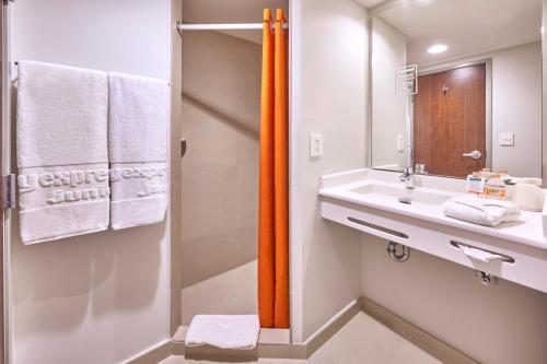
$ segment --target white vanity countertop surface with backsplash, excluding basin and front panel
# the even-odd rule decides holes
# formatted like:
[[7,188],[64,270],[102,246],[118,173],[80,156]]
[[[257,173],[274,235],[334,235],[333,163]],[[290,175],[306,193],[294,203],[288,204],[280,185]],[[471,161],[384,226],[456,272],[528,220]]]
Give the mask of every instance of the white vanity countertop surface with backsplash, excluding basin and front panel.
[[[464,192],[464,180],[432,176],[416,176],[416,179],[417,191],[433,192],[450,198],[466,195]],[[544,213],[522,211],[517,221],[501,223],[496,227],[482,226],[445,216],[443,209],[446,202],[437,206],[426,203],[404,204],[398,202],[396,198],[386,199],[375,193],[362,195],[354,191],[371,184],[389,188],[405,188],[404,184],[398,181],[398,174],[396,173],[357,169],[322,177],[319,195],[547,249],[547,236],[544,234],[543,226],[543,214],[547,213],[546,209],[544,209]]]

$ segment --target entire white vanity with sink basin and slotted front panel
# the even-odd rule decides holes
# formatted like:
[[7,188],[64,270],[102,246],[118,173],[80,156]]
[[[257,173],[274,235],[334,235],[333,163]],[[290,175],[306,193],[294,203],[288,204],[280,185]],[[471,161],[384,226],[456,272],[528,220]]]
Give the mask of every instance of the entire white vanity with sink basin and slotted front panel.
[[[465,180],[415,176],[417,188],[406,189],[398,176],[359,169],[322,177],[322,216],[547,293],[547,199],[543,213],[522,211],[517,221],[482,226],[444,215],[447,200],[467,196]],[[492,259],[477,259],[469,248]]]

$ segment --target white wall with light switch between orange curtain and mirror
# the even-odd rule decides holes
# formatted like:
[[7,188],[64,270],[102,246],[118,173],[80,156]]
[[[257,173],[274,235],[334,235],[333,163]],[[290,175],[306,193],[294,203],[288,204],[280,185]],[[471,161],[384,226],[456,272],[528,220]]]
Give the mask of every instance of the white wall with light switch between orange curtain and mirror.
[[[359,234],[321,218],[319,176],[365,164],[366,11],[353,0],[291,2],[291,317],[302,341],[359,296]],[[300,78],[298,75],[301,75]],[[309,157],[311,132],[324,136]]]

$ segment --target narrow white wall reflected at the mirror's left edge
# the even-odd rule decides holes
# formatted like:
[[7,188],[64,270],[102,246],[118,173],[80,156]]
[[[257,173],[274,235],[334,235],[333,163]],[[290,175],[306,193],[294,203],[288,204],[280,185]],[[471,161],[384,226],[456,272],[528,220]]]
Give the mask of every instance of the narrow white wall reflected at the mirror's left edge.
[[[406,36],[379,16],[372,19],[372,166],[405,165],[397,136],[406,143],[407,96],[395,92],[395,70],[407,66]],[[404,143],[404,145],[405,145]]]

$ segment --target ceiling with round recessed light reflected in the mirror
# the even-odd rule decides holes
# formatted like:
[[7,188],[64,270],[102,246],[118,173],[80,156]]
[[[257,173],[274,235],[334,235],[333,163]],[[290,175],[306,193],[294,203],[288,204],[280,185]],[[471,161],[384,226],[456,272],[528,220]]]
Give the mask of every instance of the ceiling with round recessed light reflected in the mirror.
[[[408,62],[420,66],[542,39],[542,0],[408,0],[377,16],[407,36]],[[434,44],[449,50],[428,54]]]

